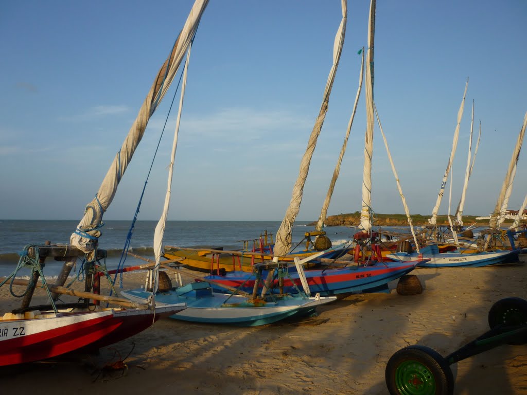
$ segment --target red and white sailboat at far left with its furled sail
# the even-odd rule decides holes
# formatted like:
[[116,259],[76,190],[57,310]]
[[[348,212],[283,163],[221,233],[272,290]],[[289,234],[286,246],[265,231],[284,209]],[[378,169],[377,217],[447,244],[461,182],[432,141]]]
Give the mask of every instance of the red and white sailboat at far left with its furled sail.
[[[71,244],[26,245],[13,273],[0,279],[0,286],[9,283],[13,296],[23,298],[21,308],[7,312],[0,318],[0,366],[40,361],[75,350],[103,347],[128,338],[150,327],[159,318],[186,308],[184,303],[157,305],[152,294],[145,303],[100,295],[100,290],[94,287],[97,283],[94,280],[97,270],[105,271],[101,260],[105,258],[106,251],[99,249],[98,243],[103,213],[113,200],[119,181],[141,141],[150,116],[167,92],[190,46],[207,3],[208,0],[197,0],[194,3],[99,192],[87,205],[83,219],[72,234]],[[85,290],[77,291],[63,287],[77,258],[82,255]],[[65,262],[53,285],[48,284],[44,276],[46,258]],[[16,278],[19,270],[23,268],[31,271],[29,281]],[[156,287],[158,270],[159,263],[153,267]],[[46,291],[50,302],[48,305],[31,304],[33,293],[39,284]],[[21,294],[15,293],[14,286],[17,285],[25,285],[25,291]],[[74,295],[84,301],[58,303],[60,294]],[[92,303],[90,300],[104,301],[118,307],[101,308],[99,303]]]

